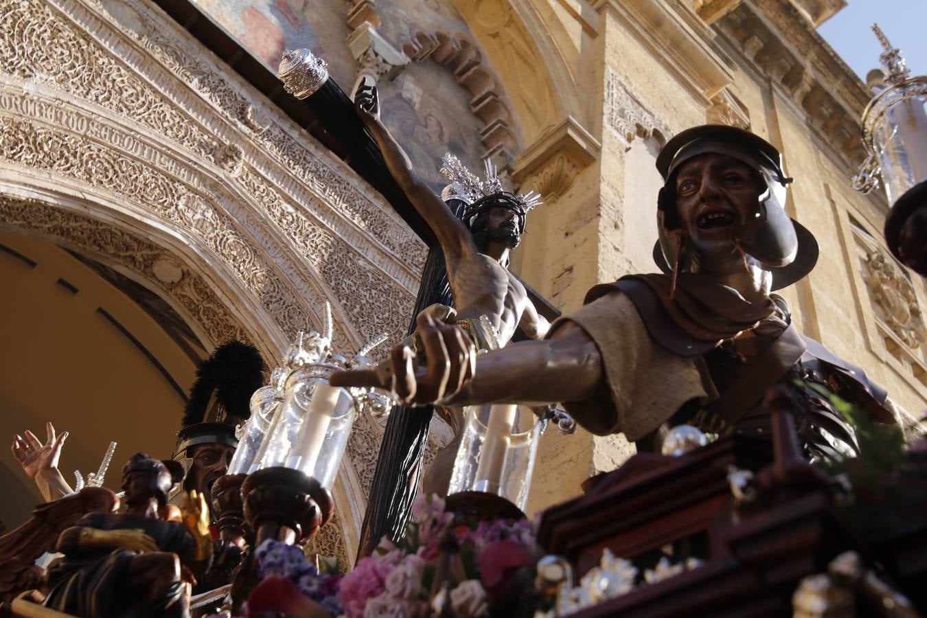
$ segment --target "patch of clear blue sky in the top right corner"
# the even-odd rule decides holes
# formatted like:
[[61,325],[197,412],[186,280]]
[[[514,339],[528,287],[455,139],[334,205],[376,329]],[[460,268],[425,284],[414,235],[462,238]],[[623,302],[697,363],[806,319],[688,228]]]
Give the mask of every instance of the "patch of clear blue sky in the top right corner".
[[848,0],[818,32],[865,81],[866,73],[879,67],[882,54],[870,30],[873,22],[901,49],[911,75],[927,75],[927,0]]

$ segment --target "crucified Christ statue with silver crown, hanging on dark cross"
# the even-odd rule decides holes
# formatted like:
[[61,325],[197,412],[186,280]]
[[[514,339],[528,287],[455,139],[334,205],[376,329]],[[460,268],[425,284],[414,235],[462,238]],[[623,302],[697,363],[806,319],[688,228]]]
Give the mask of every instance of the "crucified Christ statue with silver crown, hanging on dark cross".
[[[445,156],[442,171],[457,181],[455,194],[467,204],[464,221],[461,221],[444,199],[419,178],[408,156],[380,121],[376,86],[362,83],[354,102],[383,153],[389,172],[435,233],[444,252],[455,312],[445,309],[436,317],[461,326],[471,339],[462,339],[462,345],[476,348],[503,347],[519,327],[532,339],[540,339],[547,334],[549,322],[535,309],[525,286],[508,270],[509,252],[518,246],[525,231],[527,210],[540,202],[539,196],[503,191],[498,176],[489,165],[488,179],[483,183],[464,170],[456,158]],[[486,321],[493,333],[486,332]],[[464,337],[464,334],[459,336]],[[406,361],[412,362],[412,350],[401,348],[397,354],[409,356]],[[465,376],[459,377],[464,380]],[[400,401],[411,400],[415,393],[403,392],[400,386],[397,396]],[[460,410],[445,412],[445,419],[459,437]],[[456,444],[457,439],[438,455],[435,469],[425,479],[425,490],[446,491]],[[436,476],[439,478],[436,479]]]

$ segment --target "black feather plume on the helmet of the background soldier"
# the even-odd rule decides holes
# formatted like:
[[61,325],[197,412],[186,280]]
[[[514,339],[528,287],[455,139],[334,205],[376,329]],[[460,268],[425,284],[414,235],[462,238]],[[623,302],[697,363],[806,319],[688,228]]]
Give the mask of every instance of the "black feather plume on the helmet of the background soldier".
[[184,409],[183,427],[202,423],[212,391],[232,416],[247,419],[251,395],[264,382],[264,360],[257,347],[229,341],[217,347],[209,359],[197,368],[197,381],[190,388],[190,400]]

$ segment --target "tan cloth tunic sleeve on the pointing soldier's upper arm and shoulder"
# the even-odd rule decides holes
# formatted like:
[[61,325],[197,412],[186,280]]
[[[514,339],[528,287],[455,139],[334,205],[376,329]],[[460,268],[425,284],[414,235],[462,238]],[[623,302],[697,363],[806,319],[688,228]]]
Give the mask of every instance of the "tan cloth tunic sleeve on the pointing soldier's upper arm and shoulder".
[[553,322],[548,337],[566,322],[589,334],[602,356],[605,387],[588,400],[564,402],[593,433],[639,440],[688,401],[717,397],[701,357],[683,358],[654,343],[634,304],[620,291]]

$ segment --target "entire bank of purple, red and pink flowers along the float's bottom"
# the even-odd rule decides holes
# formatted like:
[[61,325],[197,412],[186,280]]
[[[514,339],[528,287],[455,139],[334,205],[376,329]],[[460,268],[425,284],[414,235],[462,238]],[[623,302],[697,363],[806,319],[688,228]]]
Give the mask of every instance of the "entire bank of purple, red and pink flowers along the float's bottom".
[[346,575],[320,573],[298,547],[266,540],[255,550],[261,581],[248,618],[530,617],[550,606],[534,586],[540,548],[527,520],[465,521],[437,496],[416,498],[413,522]]

